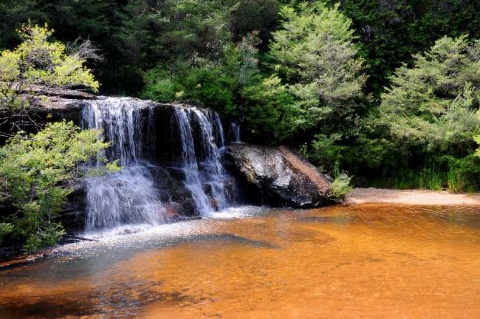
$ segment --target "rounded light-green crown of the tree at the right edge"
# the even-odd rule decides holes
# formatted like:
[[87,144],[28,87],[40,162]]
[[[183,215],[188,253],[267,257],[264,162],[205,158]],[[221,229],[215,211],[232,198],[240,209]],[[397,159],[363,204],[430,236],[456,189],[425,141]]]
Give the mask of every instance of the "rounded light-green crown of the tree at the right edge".
[[396,70],[382,95],[381,116],[393,136],[427,150],[471,144],[479,128],[480,43],[442,38],[415,55],[413,67]]

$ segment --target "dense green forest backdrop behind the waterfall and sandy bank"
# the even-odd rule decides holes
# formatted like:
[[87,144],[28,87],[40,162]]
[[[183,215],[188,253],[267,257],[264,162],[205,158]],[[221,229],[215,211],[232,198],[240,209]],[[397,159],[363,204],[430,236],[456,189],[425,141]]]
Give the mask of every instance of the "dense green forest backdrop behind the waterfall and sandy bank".
[[[476,191],[479,6],[3,0],[0,81],[11,80],[8,65],[28,31],[21,29],[47,26],[51,41],[91,70],[69,78],[69,86],[202,103],[239,122],[244,140],[288,145],[327,173],[348,172],[357,186]],[[0,107],[10,110],[6,101],[14,100]],[[8,145],[2,163],[20,152]],[[8,177],[7,169],[0,173]]]

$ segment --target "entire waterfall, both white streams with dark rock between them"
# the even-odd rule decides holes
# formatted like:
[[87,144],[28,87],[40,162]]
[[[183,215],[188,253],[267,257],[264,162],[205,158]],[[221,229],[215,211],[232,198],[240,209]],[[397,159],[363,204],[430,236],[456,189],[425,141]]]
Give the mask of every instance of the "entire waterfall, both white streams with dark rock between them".
[[[208,216],[230,205],[229,176],[222,165],[225,137],[217,113],[132,98],[85,104],[83,126],[102,130],[110,143],[99,155],[122,166],[119,172],[87,179],[87,231],[162,224],[172,212]],[[160,107],[168,115],[158,115]],[[167,117],[171,127],[165,125]],[[158,136],[163,140],[157,141],[157,132],[163,132]],[[181,154],[165,159],[177,150]]]

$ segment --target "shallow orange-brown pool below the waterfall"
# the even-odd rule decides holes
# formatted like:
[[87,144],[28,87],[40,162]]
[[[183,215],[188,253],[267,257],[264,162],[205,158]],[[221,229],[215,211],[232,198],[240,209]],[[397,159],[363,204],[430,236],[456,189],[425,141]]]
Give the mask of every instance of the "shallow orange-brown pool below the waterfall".
[[250,207],[96,236],[1,271],[0,318],[480,317],[477,207]]

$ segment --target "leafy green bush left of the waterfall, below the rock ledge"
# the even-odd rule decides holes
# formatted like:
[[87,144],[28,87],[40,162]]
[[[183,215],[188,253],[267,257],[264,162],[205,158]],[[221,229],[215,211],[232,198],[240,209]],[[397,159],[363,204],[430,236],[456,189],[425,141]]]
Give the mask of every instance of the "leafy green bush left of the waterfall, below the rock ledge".
[[36,135],[18,133],[0,149],[0,191],[17,215],[14,234],[25,249],[53,245],[64,234],[57,217],[83,171],[79,164],[107,147],[97,130],[80,131],[72,123],[47,124]]

